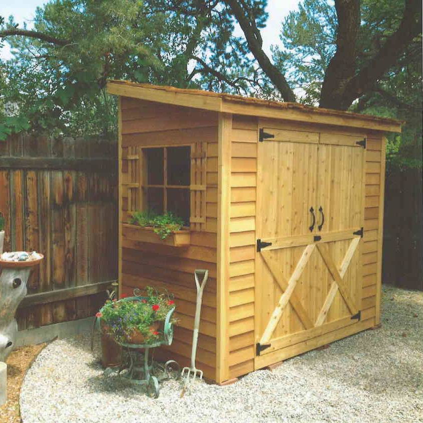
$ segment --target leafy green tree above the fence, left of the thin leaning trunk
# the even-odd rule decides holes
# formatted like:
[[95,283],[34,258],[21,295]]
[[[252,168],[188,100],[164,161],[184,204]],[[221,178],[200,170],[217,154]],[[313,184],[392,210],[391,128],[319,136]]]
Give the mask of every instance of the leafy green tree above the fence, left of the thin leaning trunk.
[[[256,8],[254,17],[264,22],[266,15]],[[13,19],[0,25],[0,40],[16,52],[0,63],[3,98],[20,106],[20,121],[33,129],[75,135],[115,131],[107,78],[259,94],[268,79],[233,25],[220,2],[50,2],[37,9],[32,30]],[[18,117],[4,116],[0,136],[23,128],[12,125]]]

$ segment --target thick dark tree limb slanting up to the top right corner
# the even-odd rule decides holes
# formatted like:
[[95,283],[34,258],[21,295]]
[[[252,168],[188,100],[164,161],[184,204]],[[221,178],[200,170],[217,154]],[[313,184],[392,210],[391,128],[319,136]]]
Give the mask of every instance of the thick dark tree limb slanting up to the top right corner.
[[421,32],[421,0],[405,0],[404,15],[398,29],[385,41],[378,53],[346,86],[346,101],[353,101],[392,67],[407,45]]

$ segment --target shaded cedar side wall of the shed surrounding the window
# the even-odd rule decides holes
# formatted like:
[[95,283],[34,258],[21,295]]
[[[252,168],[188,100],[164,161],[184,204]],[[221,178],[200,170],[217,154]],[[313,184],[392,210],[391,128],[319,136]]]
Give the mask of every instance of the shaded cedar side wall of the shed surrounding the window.
[[[209,279],[203,297],[200,320],[199,362],[215,379],[218,350],[217,333],[217,237],[218,237],[218,165],[217,114],[187,107],[170,106],[120,98],[122,134],[120,151],[119,277],[121,293],[147,286],[167,289],[175,295],[179,326],[174,343],[162,349],[164,357],[191,356],[196,288],[194,270],[207,268]],[[172,246],[155,238],[137,239],[133,228],[123,225],[131,211],[146,208],[147,166],[144,148],[190,146],[190,240],[184,247]],[[167,151],[165,150],[167,153]],[[139,166],[134,169],[134,166]],[[166,165],[166,154],[164,158]],[[166,168],[166,166],[165,166]],[[167,174],[164,184],[167,184]],[[188,188],[188,187],[187,187]],[[215,190],[209,192],[210,189]],[[165,199],[166,202],[166,199]],[[139,237],[138,237],[139,238]],[[149,242],[153,241],[153,242]],[[157,241],[157,242],[156,242]],[[167,241],[167,240],[166,240]]]

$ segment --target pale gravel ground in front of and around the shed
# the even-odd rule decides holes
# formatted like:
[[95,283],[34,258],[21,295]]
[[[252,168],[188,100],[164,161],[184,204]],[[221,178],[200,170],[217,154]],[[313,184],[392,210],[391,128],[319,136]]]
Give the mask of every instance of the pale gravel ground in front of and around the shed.
[[423,294],[386,287],[382,328],[259,370],[229,386],[142,388],[102,377],[89,336],[57,340],[27,373],[23,423],[423,422]]

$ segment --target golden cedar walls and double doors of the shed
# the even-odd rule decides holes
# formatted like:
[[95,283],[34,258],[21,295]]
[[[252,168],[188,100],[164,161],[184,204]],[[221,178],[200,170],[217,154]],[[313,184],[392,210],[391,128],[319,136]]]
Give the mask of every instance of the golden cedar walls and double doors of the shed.
[[[119,90],[129,95],[127,87]],[[147,91],[137,91],[138,98],[146,99],[143,96],[147,94]],[[167,94],[159,91],[160,104],[152,107],[145,101],[123,99],[122,110],[126,116],[122,124],[120,220],[127,217],[131,208],[129,191],[137,191],[142,185],[128,185],[132,183],[128,177],[130,161],[137,157],[136,152],[130,151],[131,146],[183,145],[187,138],[190,144],[205,143],[204,149],[194,149],[196,154],[197,150],[201,150],[201,155],[204,151],[207,161],[205,182],[200,178],[200,183],[191,175],[191,179],[195,179],[193,187],[205,197],[199,202],[201,209],[204,205],[204,227],[192,231],[193,244],[184,251],[174,252],[165,246],[125,241],[122,249],[122,270],[127,280],[124,290],[163,284],[176,291],[181,305],[178,313],[182,333],[176,337],[175,347],[171,346],[168,351],[182,360],[189,358],[195,299],[192,272],[201,266],[209,269],[210,280],[201,318],[200,362],[209,366],[218,382],[371,326],[377,314],[381,260],[383,152],[380,133],[366,133],[351,116],[335,119],[337,126],[330,126],[330,121],[323,118],[320,124],[294,122],[299,119],[298,111],[287,113],[291,122],[265,119],[261,125],[260,120],[245,112],[245,107],[241,111],[235,103],[225,110],[237,114],[227,115],[215,113],[221,110],[222,102],[210,100],[205,107],[196,103],[192,109],[186,109],[189,104],[184,93],[178,93],[172,100]],[[168,101],[172,105],[166,104]],[[271,116],[276,114],[267,114]],[[274,129],[275,138],[258,143],[261,126]],[[377,129],[377,126],[372,127]],[[367,137],[365,152],[356,144],[362,137]],[[263,165],[259,163],[260,157],[264,158]],[[197,157],[194,159],[191,166],[195,174],[202,165],[198,167]],[[265,180],[263,166],[267,175],[276,176]],[[283,169],[280,175],[278,169]],[[266,192],[265,198],[260,190]],[[196,198],[197,193],[191,213],[195,211],[195,219],[199,211]],[[310,251],[302,265],[305,245],[312,244],[313,239],[310,242],[309,238],[315,235],[314,232],[310,235],[309,230],[311,206],[316,213],[319,206],[325,212],[325,226],[322,231],[315,230],[327,239],[316,242],[317,248]],[[286,218],[280,217],[283,213]],[[317,214],[317,217],[319,224],[321,216]],[[278,226],[269,230],[276,220]],[[361,226],[364,239],[352,241],[352,232]],[[306,244],[280,248],[279,244],[287,237],[306,236]],[[274,245],[267,253],[271,257],[273,275],[280,273],[286,280],[293,275],[292,284],[275,283],[272,277],[272,285],[265,292],[259,292],[255,280],[259,277],[262,286],[263,277],[268,277],[270,270],[256,259],[257,238],[273,240]],[[316,272],[322,278],[319,287],[310,282]],[[278,341],[278,350],[271,349],[262,357],[255,357],[254,343],[262,335],[258,329],[270,318],[269,311],[262,306],[268,302],[273,305],[273,311],[279,299],[283,299],[281,310],[286,313],[279,313],[280,324],[273,328],[271,342],[273,339],[283,341]],[[362,321],[356,323],[351,321],[350,315],[358,310],[362,311]],[[313,328],[316,319],[317,328]],[[309,331],[301,330],[304,321]]]

